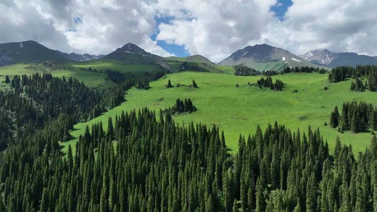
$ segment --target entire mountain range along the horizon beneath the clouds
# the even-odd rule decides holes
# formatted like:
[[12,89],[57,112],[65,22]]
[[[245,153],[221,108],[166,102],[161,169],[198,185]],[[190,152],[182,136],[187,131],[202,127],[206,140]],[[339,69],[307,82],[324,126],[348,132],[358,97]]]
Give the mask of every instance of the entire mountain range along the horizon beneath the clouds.
[[63,62],[115,60],[122,61],[126,64],[149,63],[166,67],[170,66],[170,68],[171,66],[177,66],[175,68],[179,70],[186,70],[187,67],[198,67],[192,66],[195,64],[202,68],[207,67],[210,69],[217,69],[216,67],[219,67],[218,65],[233,66],[244,64],[259,71],[271,69],[280,71],[285,67],[295,66],[311,66],[329,69],[341,65],[377,65],[377,56],[358,55],[353,52],[335,53],[328,51],[328,49],[314,50],[297,56],[287,50],[267,44],[246,46],[218,63],[213,63],[202,55],[165,58],[151,54],[132,43],[127,43],[107,55],[67,54],[46,48],[31,40],[0,44],[0,66],[15,63],[36,63],[47,60]]

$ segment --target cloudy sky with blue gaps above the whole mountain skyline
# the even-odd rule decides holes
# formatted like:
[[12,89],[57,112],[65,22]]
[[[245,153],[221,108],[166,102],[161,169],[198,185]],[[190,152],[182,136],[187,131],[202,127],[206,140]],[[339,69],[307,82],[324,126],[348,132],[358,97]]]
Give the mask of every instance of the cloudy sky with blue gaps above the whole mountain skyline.
[[266,43],[377,55],[375,0],[1,0],[0,43],[34,40],[62,52],[153,54],[221,61]]

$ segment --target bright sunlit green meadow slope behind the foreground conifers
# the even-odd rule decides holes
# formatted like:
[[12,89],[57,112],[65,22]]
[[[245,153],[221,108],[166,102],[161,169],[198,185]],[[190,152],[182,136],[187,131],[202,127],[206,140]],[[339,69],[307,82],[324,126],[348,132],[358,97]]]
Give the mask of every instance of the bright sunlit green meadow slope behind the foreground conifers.
[[[340,134],[323,123],[329,122],[329,115],[336,105],[341,108],[344,101],[367,101],[377,104],[376,93],[349,91],[352,80],[331,84],[327,80],[327,74],[284,74],[272,77],[273,81],[279,78],[286,83],[283,91],[272,91],[268,88],[257,88],[248,86],[248,82],[255,83],[259,77],[238,77],[234,75],[201,73],[201,72],[180,72],[169,74],[167,78],[150,83],[152,89],[148,91],[131,89],[127,94],[127,101],[121,106],[95,118],[87,123],[75,125],[74,137],[83,134],[87,124],[91,126],[97,121],[102,121],[104,128],[107,128],[107,120],[111,116],[113,120],[116,114],[122,110],[138,110],[142,107],[154,109],[157,113],[159,109],[168,108],[175,104],[177,98],[190,98],[198,111],[192,114],[175,115],[177,124],[206,123],[207,126],[215,124],[225,132],[227,146],[232,150],[237,150],[238,137],[241,133],[247,136],[249,132],[254,132],[257,124],[265,129],[268,122],[275,120],[280,124],[285,124],[288,128],[296,131],[306,132],[308,125],[316,129],[319,128],[324,139],[328,140],[330,151],[333,151],[334,142],[337,136],[346,144],[352,144],[354,152],[364,151],[371,138],[370,133],[352,134],[345,132]],[[198,89],[188,86],[179,88],[164,87],[168,80],[172,84],[191,84],[194,79],[198,84]],[[236,83],[240,85],[235,88]],[[328,86],[328,90],[323,88]],[[297,93],[292,91],[297,89]],[[68,144],[72,147],[75,140],[63,143],[64,150]]]

